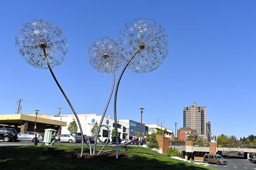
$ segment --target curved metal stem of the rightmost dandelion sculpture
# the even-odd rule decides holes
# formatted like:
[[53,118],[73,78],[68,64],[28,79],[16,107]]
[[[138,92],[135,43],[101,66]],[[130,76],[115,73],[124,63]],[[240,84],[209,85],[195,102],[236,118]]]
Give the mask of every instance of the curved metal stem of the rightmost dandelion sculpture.
[[137,51],[132,55],[132,57],[129,59],[129,61],[126,63],[126,65],[124,66],[119,78],[118,78],[118,81],[116,83],[116,91],[115,91],[115,98],[114,98],[114,118],[115,118],[115,130],[116,130],[116,159],[118,159],[118,131],[117,131],[117,118],[116,118],[116,96],[117,96],[117,90],[118,90],[118,86],[119,86],[119,83],[120,83],[120,80],[124,74],[124,71],[126,69],[126,67],[128,66],[128,64],[132,61],[132,58],[139,52],[140,48],[137,49]]

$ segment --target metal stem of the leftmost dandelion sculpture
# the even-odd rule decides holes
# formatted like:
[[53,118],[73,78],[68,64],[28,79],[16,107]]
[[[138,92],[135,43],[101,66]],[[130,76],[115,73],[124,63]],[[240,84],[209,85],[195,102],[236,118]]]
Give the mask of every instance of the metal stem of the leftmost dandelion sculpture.
[[64,93],[64,91],[63,91],[63,89],[61,88],[59,82],[57,81],[55,75],[53,74],[52,68],[51,68],[51,66],[50,66],[50,63],[49,63],[49,61],[48,61],[48,59],[47,59],[47,55],[46,55],[46,53],[45,53],[45,49],[43,49],[43,51],[44,51],[44,59],[46,60],[46,63],[47,63],[48,68],[49,68],[49,70],[50,70],[50,72],[51,72],[51,74],[52,74],[52,77],[53,77],[53,79],[55,80],[55,82],[57,83],[57,85],[58,85],[60,91],[62,92],[63,96],[64,96],[65,99],[67,100],[67,102],[68,102],[68,104],[69,104],[71,110],[73,111],[73,113],[74,113],[74,115],[75,115],[75,117],[76,117],[76,120],[77,120],[79,129],[80,129],[81,135],[82,135],[82,150],[81,150],[81,157],[82,157],[82,156],[83,156],[83,152],[84,152],[84,135],[83,135],[83,131],[82,131],[82,126],[81,126],[81,124],[80,124],[80,121],[79,121],[79,119],[78,119],[78,116],[77,116],[77,114],[76,114],[76,111],[74,110],[73,106],[72,106],[71,103],[69,102],[68,97],[67,97],[66,94]]

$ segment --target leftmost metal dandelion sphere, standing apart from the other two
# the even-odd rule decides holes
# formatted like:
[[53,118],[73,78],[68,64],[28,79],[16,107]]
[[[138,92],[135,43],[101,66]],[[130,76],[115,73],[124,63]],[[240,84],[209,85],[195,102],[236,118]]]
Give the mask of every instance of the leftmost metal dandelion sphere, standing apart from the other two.
[[22,24],[15,44],[21,57],[40,69],[59,66],[68,53],[67,39],[60,28],[42,19]]

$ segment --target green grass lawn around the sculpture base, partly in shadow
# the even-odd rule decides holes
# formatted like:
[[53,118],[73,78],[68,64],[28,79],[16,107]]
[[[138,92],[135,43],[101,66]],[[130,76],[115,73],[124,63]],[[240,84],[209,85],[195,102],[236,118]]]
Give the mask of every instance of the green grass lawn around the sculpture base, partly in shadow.
[[[48,152],[47,148],[54,148],[54,152]],[[87,146],[84,147],[88,155]],[[97,149],[100,146],[97,146]],[[111,149],[111,148],[106,148]],[[0,147],[0,169],[1,170],[22,170],[22,169],[175,169],[175,170],[203,170],[212,169],[202,165],[196,165],[189,162],[172,159],[155,151],[144,147],[126,146],[119,150],[119,155],[128,152],[130,158],[93,159],[85,156],[84,160],[72,159],[70,153],[78,152],[80,154],[80,145],[30,145],[30,146],[3,146]],[[64,156],[62,154],[68,152]],[[54,156],[53,156],[54,155]],[[99,156],[99,155],[98,155]],[[65,158],[64,158],[65,157]],[[106,157],[105,157],[106,158]]]

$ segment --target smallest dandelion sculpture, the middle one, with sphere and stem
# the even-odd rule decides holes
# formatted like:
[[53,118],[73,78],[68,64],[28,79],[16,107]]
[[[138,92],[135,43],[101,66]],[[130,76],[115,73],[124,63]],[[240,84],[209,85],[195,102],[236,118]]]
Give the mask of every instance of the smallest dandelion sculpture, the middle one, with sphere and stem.
[[[101,117],[99,128],[97,130],[96,139],[98,140],[98,136],[100,133],[100,128],[102,126],[103,119],[105,117],[106,111],[108,109],[108,104],[110,102],[111,96],[114,91],[115,86],[115,71],[119,69],[119,67],[122,65],[123,56],[120,52],[120,43],[118,43],[115,39],[110,37],[100,37],[98,39],[95,39],[89,46],[87,58],[90,63],[90,65],[98,72],[103,74],[113,74],[113,84],[112,89],[108,98],[107,105],[105,107],[105,110],[103,112],[103,115]],[[109,128],[105,126],[108,129],[108,134],[110,134]],[[116,127],[116,126],[115,126]],[[117,131],[117,129],[116,129]],[[109,136],[108,136],[109,139]],[[108,141],[107,139],[107,141]],[[101,141],[102,142],[102,141]],[[96,150],[96,143],[94,143],[93,147],[93,154],[95,154]],[[100,150],[103,151],[105,146],[107,145],[107,142],[105,142],[105,145]],[[98,154],[100,154],[100,152]]]

